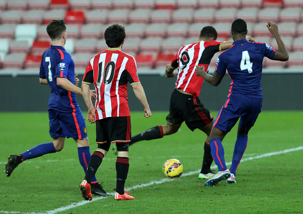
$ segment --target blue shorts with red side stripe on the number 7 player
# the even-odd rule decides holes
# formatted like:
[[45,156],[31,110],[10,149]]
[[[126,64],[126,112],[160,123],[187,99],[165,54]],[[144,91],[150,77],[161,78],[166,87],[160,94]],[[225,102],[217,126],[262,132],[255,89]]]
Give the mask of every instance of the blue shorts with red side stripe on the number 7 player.
[[50,137],[87,137],[85,119],[81,111],[65,113],[53,109],[48,110]]

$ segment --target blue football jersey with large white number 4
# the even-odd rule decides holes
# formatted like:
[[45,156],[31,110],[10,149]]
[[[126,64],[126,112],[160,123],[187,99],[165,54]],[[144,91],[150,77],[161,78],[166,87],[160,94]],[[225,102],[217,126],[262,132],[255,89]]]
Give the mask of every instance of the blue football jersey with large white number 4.
[[272,58],[275,49],[262,42],[235,41],[228,50],[222,52],[215,72],[231,77],[230,93],[243,94],[253,98],[263,98],[261,88],[262,63],[264,56]]

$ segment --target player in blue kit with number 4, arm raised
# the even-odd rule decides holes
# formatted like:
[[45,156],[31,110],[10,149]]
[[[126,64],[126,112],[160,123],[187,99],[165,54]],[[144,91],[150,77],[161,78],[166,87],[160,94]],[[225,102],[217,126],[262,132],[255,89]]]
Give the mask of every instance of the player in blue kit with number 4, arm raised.
[[[277,42],[277,50],[262,42],[248,42],[245,39],[246,22],[243,19],[236,19],[231,30],[235,42],[230,49],[219,55],[214,74],[207,74],[203,66],[197,66],[195,69],[197,76],[203,77],[215,86],[220,84],[226,70],[232,80],[228,99],[219,111],[210,134],[211,154],[219,172],[210,178],[205,186],[214,186],[223,179],[227,179],[226,182],[231,184],[236,182],[236,171],[247,146],[248,131],[254,126],[261,112],[263,58],[266,56],[273,60],[288,60],[288,51],[277,25],[267,22],[266,26]],[[237,140],[229,170],[224,160],[222,140],[239,118]]]

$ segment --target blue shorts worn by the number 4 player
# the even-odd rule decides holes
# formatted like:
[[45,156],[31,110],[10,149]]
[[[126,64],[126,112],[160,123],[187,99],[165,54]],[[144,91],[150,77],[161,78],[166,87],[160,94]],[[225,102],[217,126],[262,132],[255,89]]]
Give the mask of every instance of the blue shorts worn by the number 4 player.
[[213,126],[224,132],[230,132],[240,117],[239,127],[248,132],[261,112],[262,100],[241,94],[229,94]]

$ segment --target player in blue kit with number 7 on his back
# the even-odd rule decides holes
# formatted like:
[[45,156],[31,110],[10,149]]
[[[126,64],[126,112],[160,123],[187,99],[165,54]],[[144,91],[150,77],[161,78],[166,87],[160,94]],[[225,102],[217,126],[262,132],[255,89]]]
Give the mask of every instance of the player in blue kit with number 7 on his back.
[[[9,161],[5,166],[8,177],[23,161],[61,151],[66,137],[73,138],[77,143],[79,161],[85,172],[90,160],[87,128],[76,97],[76,94],[82,95],[82,91],[81,88],[74,85],[75,80],[78,84],[79,79],[75,78],[74,62],[70,54],[64,49],[67,38],[64,20],[50,21],[46,31],[52,39],[52,45],[42,55],[39,80],[41,84],[47,84],[52,89],[47,109],[49,134],[53,141],[39,144],[18,156],[9,156]],[[90,98],[95,99],[93,91],[91,91]],[[92,179],[92,193],[102,196],[108,195],[95,177]]]

